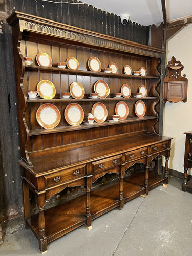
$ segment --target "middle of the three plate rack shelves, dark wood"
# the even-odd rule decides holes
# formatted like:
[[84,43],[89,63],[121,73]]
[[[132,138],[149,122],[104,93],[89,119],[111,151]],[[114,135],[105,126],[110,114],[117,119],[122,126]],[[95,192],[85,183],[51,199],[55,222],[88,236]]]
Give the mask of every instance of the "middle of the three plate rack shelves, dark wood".
[[28,99],[28,102],[85,102],[85,101],[119,101],[119,100],[150,100],[158,99],[158,97],[130,97],[130,98],[105,98],[105,99]]

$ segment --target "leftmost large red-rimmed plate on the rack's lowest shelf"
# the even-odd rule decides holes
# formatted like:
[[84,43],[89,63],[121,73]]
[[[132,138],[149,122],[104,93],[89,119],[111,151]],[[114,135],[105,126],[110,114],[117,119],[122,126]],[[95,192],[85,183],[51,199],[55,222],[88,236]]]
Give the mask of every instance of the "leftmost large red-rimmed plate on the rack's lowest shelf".
[[45,129],[55,128],[61,119],[58,108],[50,103],[39,106],[36,112],[37,122]]

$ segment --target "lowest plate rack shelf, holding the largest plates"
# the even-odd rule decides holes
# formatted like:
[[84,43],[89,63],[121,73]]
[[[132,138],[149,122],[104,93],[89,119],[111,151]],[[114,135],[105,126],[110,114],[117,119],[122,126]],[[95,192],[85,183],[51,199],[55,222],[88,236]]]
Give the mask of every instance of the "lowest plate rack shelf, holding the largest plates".
[[56,127],[54,129],[34,129],[29,132],[29,136],[34,136],[34,135],[43,135],[43,134],[51,134],[51,133],[61,133],[61,132],[69,132],[69,131],[76,131],[76,130],[84,130],[84,129],[90,129],[90,128],[98,128],[102,126],[109,126],[109,125],[119,125],[119,124],[124,124],[124,123],[131,123],[131,122],[138,122],[138,121],[146,121],[146,120],[151,120],[151,119],[156,119],[156,116],[144,116],[144,117],[132,117],[132,118],[127,118],[125,120],[120,120],[118,122],[113,122],[110,123],[108,121],[105,121],[103,123],[95,123],[93,126],[89,125],[76,125],[76,126],[61,126],[61,127]]

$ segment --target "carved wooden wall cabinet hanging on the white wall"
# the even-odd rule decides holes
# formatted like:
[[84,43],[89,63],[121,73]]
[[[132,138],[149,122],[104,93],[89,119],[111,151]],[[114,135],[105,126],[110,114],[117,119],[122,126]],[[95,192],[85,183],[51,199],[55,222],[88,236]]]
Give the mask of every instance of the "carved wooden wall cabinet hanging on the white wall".
[[181,76],[184,69],[180,61],[173,56],[166,66],[166,75],[163,81],[163,103],[166,101],[177,103],[179,101],[187,101],[187,85],[186,75]]

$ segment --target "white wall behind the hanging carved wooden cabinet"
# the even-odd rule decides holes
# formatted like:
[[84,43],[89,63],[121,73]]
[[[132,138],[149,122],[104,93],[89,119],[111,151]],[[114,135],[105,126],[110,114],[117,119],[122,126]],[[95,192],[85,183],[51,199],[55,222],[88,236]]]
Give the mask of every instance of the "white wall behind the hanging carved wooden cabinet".
[[[185,134],[192,130],[192,24],[182,28],[167,41],[166,64],[174,56],[184,66],[188,79],[187,102],[164,105],[163,135],[173,137],[169,168],[183,173]],[[189,170],[188,174],[192,171]]]

